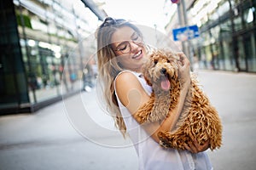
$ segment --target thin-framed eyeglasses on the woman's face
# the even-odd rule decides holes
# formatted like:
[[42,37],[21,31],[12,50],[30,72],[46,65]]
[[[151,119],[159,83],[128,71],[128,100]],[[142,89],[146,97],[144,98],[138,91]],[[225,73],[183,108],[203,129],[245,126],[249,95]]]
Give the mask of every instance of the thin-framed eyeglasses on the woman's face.
[[137,35],[137,37],[130,41],[121,42],[114,51],[121,52],[122,54],[131,53],[131,42],[137,45],[143,45],[143,38]]

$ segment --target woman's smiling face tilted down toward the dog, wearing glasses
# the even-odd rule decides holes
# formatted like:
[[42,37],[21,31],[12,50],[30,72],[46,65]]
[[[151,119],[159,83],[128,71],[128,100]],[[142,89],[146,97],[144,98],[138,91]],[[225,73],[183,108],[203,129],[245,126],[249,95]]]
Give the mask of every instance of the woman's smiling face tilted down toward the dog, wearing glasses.
[[143,39],[129,26],[120,27],[111,38],[119,65],[125,70],[140,72],[146,61]]

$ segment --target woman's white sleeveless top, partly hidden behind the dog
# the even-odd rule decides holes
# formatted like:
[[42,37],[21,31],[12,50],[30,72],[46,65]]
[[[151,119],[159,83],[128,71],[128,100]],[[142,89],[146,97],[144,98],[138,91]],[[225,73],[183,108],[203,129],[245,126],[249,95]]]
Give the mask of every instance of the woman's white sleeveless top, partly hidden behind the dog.
[[[150,95],[152,93],[152,88],[148,86],[143,78],[139,77],[141,74],[133,71],[130,72],[137,77],[147,94]],[[129,134],[137,151],[139,170],[213,169],[206,152],[192,154],[188,150],[163,149],[160,144],[156,143],[154,139],[148,136],[148,133],[144,131],[143,127],[141,127],[139,123],[131,116],[131,113],[127,110],[127,108],[125,108],[124,105],[122,105],[118,96],[117,99],[119,109],[124,117],[127,133]]]

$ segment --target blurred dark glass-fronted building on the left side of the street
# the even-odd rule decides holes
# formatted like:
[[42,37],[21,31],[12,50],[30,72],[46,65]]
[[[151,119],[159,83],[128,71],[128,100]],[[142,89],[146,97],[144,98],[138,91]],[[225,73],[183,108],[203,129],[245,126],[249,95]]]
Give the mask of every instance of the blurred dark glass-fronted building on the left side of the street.
[[[79,92],[79,42],[104,11],[92,0],[2,0],[0,8],[0,115],[36,111]],[[71,53],[76,57],[68,59]]]

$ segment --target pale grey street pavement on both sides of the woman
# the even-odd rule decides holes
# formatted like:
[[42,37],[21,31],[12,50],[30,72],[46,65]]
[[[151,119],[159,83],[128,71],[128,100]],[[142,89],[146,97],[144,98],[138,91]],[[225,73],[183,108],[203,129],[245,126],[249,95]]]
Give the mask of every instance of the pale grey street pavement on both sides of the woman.
[[[215,170],[256,167],[256,75],[195,71],[222,119],[223,146],[207,150]],[[0,116],[0,170],[134,170],[136,151],[82,91],[33,114]]]

